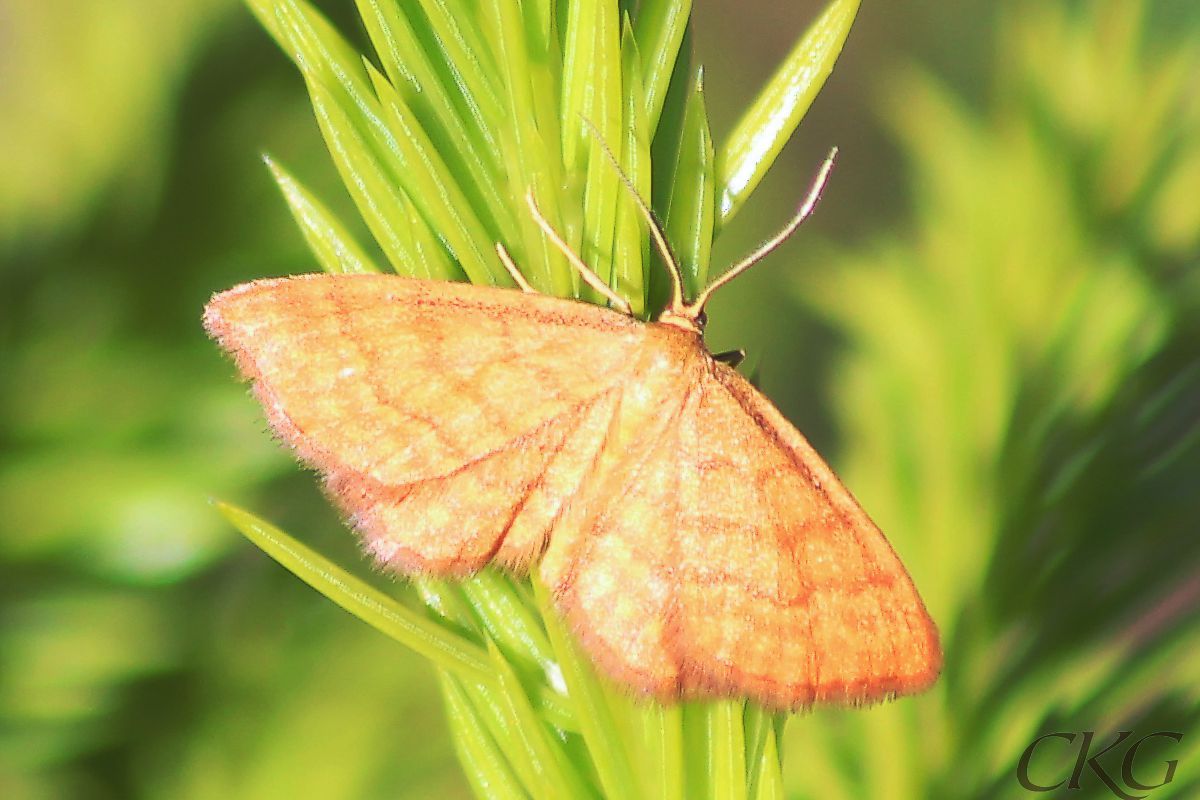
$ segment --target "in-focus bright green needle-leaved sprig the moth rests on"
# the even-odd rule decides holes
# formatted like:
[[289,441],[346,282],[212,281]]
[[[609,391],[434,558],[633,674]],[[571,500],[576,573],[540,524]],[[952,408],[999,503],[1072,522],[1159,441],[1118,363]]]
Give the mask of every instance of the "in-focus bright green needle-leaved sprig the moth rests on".
[[[602,300],[542,236],[538,203],[635,313],[665,299],[662,265],[611,163],[664,219],[689,294],[719,224],[794,131],[858,8],[833,0],[745,112],[713,142],[690,2],[360,0],[358,53],[302,0],[250,0],[304,76],[318,125],[374,239],[368,253],[295,176],[269,166],[330,272],[508,285],[503,242],[529,282]],[[607,152],[606,152],[607,151]],[[611,154],[611,156],[610,156]],[[493,571],[383,595],[246,511],[223,513],[340,606],[427,657],[470,786],[498,798],[776,798],[780,717],[730,699],[659,706],[598,676],[546,589]]]

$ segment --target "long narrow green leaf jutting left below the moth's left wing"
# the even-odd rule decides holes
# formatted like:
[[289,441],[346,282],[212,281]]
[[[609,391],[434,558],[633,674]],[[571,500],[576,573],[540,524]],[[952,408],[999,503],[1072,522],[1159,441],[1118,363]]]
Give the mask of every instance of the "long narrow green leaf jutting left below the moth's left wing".
[[248,511],[227,503],[216,505],[221,515],[246,539],[367,625],[464,680],[482,684],[496,681],[494,658],[479,645],[406,608]]

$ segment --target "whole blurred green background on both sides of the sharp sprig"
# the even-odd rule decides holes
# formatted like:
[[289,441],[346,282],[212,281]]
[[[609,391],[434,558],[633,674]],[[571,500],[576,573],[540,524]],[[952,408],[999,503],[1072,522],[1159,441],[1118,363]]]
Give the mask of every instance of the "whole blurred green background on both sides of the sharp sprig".
[[[697,0],[718,142],[820,5]],[[0,798],[467,796],[427,666],[208,504],[361,564],[199,327],[314,269],[259,160],[340,197],[293,67],[235,0],[0,0]],[[947,667],[793,720],[790,794],[1028,796],[1034,736],[1134,729],[1183,733],[1139,777],[1196,796],[1200,7],[865,4],[714,266],[833,144],[709,342],[888,533]]]

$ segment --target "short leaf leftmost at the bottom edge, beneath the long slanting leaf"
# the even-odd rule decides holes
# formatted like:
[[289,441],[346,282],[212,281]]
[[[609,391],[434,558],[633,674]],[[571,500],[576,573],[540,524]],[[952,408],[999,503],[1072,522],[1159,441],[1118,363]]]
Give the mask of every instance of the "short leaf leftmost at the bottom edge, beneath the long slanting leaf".
[[455,752],[476,798],[524,800],[521,781],[512,771],[504,750],[487,730],[487,723],[475,711],[458,679],[438,670],[446,722],[454,736]]

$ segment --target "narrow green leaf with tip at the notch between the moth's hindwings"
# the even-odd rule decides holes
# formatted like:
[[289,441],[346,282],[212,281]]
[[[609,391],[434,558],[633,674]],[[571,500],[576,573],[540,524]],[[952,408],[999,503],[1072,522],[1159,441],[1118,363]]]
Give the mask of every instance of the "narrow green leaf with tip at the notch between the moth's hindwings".
[[637,783],[629,753],[623,746],[625,735],[613,718],[605,686],[590,660],[576,646],[548,590],[536,576],[533,577],[533,589],[605,796],[634,798],[637,795]]

